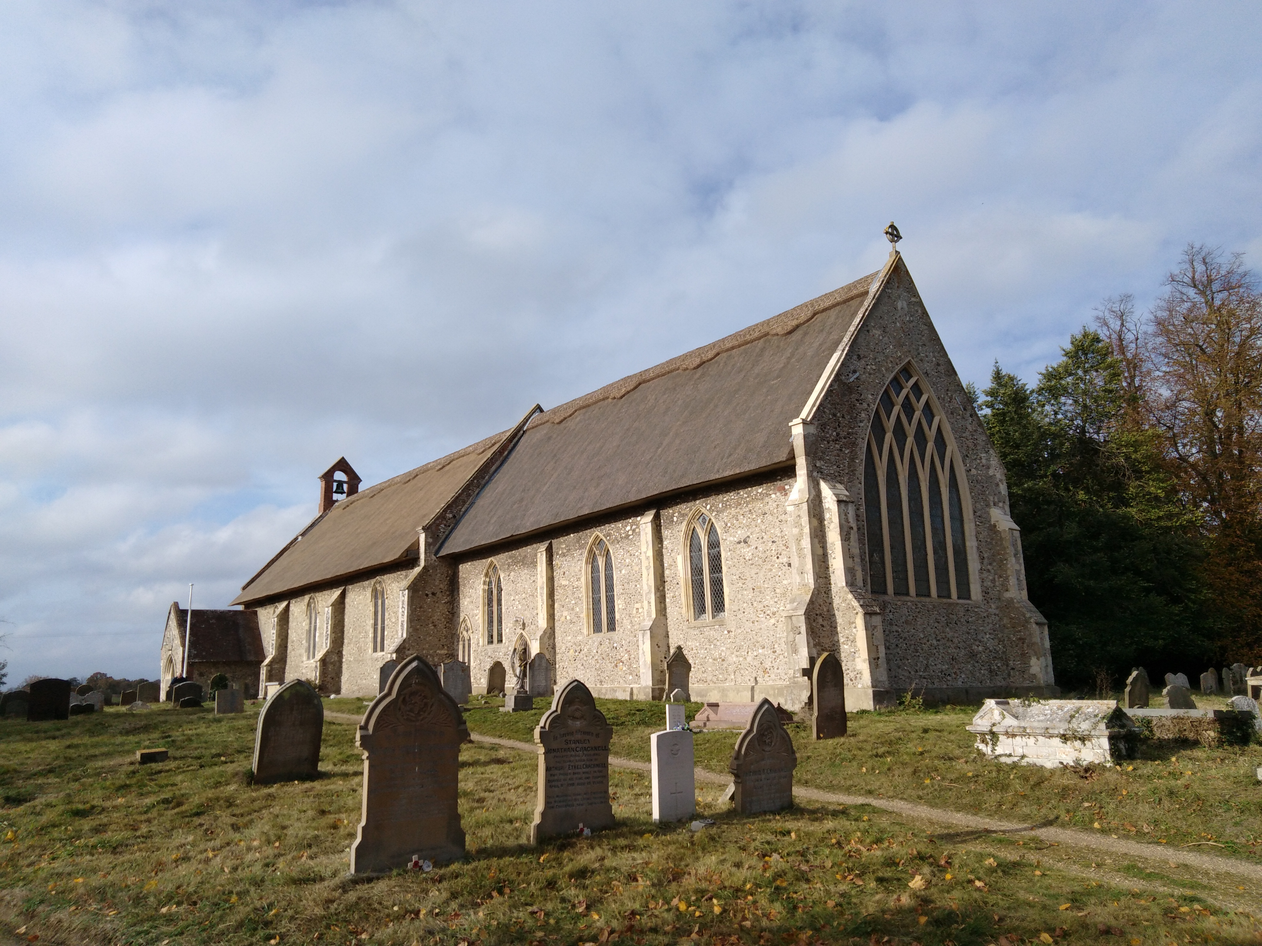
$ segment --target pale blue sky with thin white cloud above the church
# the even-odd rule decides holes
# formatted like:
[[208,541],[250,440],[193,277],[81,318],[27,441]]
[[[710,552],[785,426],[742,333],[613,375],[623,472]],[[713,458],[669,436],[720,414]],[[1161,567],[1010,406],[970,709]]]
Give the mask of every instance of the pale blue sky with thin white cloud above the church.
[[1262,255],[1256,4],[0,8],[0,617],[156,676],[366,483],[876,269],[1027,378]]

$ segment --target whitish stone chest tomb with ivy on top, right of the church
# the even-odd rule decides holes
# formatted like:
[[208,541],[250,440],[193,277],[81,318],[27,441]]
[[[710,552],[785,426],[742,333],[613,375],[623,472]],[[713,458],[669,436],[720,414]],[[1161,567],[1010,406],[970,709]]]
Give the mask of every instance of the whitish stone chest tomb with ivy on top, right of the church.
[[1140,739],[1113,700],[987,700],[968,732],[998,762],[1046,768],[1135,758]]

